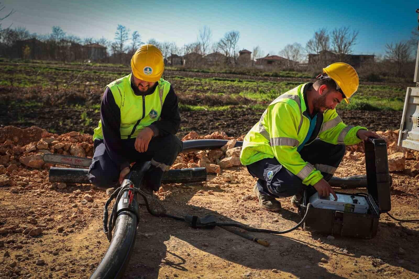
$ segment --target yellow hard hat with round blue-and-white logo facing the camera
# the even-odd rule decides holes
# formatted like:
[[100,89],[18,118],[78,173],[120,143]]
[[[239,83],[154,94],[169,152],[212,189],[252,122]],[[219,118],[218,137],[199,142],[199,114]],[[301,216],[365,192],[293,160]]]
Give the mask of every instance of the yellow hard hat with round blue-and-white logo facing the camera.
[[164,59],[160,49],[145,44],[132,55],[131,70],[134,77],[149,82],[158,81],[164,71]]

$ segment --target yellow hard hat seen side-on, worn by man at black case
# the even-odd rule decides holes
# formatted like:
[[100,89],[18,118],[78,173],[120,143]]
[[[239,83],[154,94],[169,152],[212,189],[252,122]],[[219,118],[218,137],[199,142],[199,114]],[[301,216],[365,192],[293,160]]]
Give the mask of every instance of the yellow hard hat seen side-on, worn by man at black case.
[[344,62],[336,62],[323,68],[323,72],[329,78],[335,81],[337,88],[346,98],[345,101],[349,104],[349,98],[358,90],[360,81],[355,69]]

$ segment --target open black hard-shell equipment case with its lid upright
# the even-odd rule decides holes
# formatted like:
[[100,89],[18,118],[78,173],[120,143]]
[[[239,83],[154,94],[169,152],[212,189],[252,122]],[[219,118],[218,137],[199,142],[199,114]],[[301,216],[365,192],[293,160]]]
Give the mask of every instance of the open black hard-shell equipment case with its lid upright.
[[[388,172],[385,141],[369,139],[364,142],[364,147],[368,193],[357,193],[356,195],[365,197],[369,205],[368,212],[362,214],[311,207],[303,224],[304,230],[366,239],[375,237],[380,213],[388,212],[391,209],[391,177]],[[311,196],[308,192],[314,194],[310,190],[304,191],[303,202],[300,205],[301,216],[304,216],[307,210],[308,200]]]

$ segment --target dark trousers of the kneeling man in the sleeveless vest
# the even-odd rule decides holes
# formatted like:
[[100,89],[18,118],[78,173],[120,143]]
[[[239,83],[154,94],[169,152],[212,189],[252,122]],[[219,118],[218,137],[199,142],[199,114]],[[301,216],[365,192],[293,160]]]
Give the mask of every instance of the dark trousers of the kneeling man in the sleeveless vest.
[[[173,134],[164,137],[153,137],[148,144],[146,152],[135,150],[135,138],[122,140],[124,150],[130,163],[151,161],[151,167],[145,173],[144,179],[147,186],[153,191],[158,191],[164,171],[176,160],[182,150],[183,143]],[[89,168],[89,181],[98,188],[106,189],[117,185],[120,165],[117,165],[108,155],[103,140],[94,142],[94,154]]]

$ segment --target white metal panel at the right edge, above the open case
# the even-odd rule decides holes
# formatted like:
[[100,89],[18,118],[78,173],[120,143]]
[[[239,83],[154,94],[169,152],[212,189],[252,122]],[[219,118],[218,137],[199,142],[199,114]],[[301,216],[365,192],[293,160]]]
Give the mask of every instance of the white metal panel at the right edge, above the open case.
[[419,150],[419,87],[408,87],[397,144]]

